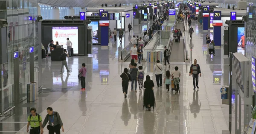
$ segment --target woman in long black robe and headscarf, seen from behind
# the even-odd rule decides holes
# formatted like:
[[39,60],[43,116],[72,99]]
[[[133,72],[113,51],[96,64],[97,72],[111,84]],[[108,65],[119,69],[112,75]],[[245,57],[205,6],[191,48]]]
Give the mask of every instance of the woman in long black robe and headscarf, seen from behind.
[[155,106],[155,98],[154,98],[154,82],[150,79],[150,76],[146,76],[146,81],[144,82],[143,87],[145,88],[144,95],[143,95],[143,107],[145,106],[146,109],[149,111],[151,110],[152,106]]

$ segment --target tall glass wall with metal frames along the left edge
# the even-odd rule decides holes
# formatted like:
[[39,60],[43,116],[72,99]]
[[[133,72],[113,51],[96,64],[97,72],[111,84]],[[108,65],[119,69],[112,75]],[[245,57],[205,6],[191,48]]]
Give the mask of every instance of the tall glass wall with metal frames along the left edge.
[[[3,6],[6,5],[6,6]],[[26,99],[26,84],[29,80],[29,47],[38,46],[37,0],[1,0],[0,18],[5,18],[7,27],[7,63],[1,64],[0,92],[3,111],[14,106],[14,92],[20,91],[19,100]],[[28,18],[32,17],[32,20]],[[40,46],[41,47],[41,46]],[[14,64],[13,53],[19,51],[19,62]],[[34,55],[36,57],[36,55]],[[35,62],[36,63],[36,62]],[[14,89],[14,68],[19,68],[19,89]],[[17,71],[16,71],[17,72]],[[35,81],[38,75],[35,74]]]

